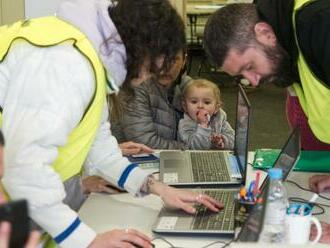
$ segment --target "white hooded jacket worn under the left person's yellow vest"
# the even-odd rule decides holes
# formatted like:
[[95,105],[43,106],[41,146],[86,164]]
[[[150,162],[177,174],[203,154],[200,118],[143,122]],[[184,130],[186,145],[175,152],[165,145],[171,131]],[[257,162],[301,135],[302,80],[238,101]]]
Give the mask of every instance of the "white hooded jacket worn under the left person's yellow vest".
[[[109,34],[119,37],[106,16],[109,1],[68,0],[62,4],[60,10],[65,11],[58,16],[69,22],[66,14],[80,17],[81,20],[76,18],[77,23],[74,20],[71,23],[90,38],[98,51],[101,37]],[[82,15],[84,12],[89,16]],[[120,40],[108,49],[113,51],[113,57],[104,56],[106,53],[100,57],[113,88],[118,89],[126,75],[125,49]],[[32,219],[52,237],[67,231],[77,213],[62,202],[66,195],[63,183],[50,165],[57,157],[57,148],[66,143],[79,124],[94,87],[89,62],[70,44],[39,48],[24,41],[15,42],[0,63],[0,106],[6,138],[3,182],[12,199],[28,199]],[[116,139],[110,134],[107,115],[105,105],[86,166],[92,174],[117,184],[129,161],[122,157]],[[147,176],[135,168],[126,179],[126,190],[140,195]],[[60,246],[87,247],[95,236],[95,231],[80,223]]]

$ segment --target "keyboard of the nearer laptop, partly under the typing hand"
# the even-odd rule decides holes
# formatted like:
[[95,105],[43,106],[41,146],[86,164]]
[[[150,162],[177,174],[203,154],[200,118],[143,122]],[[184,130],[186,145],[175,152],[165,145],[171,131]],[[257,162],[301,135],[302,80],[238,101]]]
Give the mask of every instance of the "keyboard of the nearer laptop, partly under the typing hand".
[[193,230],[234,230],[234,193],[232,191],[205,191],[205,194],[217,199],[224,204],[224,209],[214,213],[206,207],[197,207],[197,213],[192,223]]

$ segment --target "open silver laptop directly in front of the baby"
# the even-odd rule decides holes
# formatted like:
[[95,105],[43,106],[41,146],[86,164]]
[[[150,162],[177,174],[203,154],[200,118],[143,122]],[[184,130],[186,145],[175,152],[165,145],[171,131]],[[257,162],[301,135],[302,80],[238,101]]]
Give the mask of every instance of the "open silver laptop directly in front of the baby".
[[239,85],[234,151],[162,151],[160,180],[169,185],[245,184],[250,102]]

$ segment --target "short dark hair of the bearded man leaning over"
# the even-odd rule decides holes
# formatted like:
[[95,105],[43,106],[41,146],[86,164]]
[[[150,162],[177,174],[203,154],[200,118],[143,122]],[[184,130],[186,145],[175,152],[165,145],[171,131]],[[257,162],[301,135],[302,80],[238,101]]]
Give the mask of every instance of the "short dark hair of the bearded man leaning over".
[[204,46],[210,62],[221,67],[231,48],[244,52],[255,41],[254,26],[260,21],[251,3],[228,4],[208,19]]

